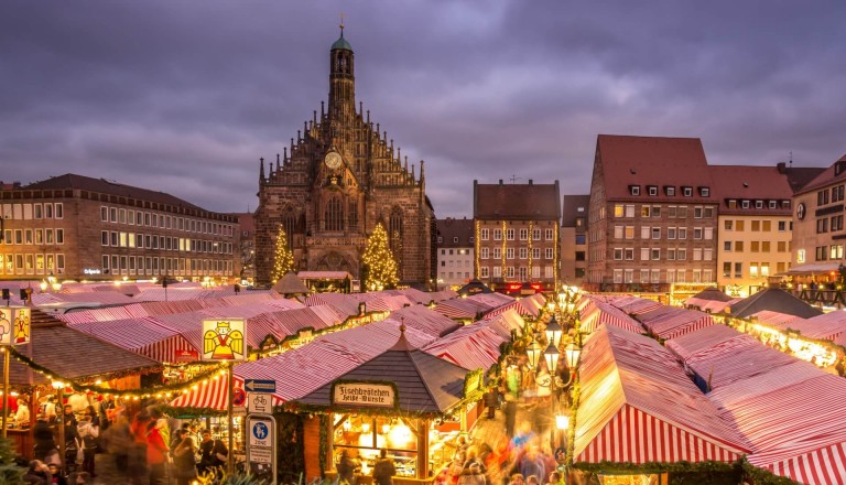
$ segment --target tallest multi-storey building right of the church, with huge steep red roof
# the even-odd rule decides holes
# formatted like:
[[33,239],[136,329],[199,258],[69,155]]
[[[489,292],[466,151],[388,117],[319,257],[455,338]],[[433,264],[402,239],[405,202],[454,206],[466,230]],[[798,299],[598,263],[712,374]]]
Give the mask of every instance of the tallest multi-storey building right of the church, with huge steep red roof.
[[696,138],[600,134],[588,208],[593,291],[716,282],[717,207]]

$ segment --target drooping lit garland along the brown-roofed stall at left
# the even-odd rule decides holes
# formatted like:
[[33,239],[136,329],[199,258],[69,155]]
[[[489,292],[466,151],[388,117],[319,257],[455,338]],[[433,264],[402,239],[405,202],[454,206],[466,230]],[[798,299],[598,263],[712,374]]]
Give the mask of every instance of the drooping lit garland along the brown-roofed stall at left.
[[[226,363],[223,363],[223,364],[216,365],[215,368],[210,370],[206,370],[197,375],[196,377],[194,377],[193,379],[186,382],[160,386],[160,387],[149,388],[149,389],[120,390],[120,389],[111,389],[108,387],[98,386],[97,382],[95,382],[94,385],[75,382],[73,379],[62,377],[58,375],[58,373],[54,373],[51,369],[36,364],[28,356],[18,353],[18,351],[14,348],[11,348],[11,355],[21,364],[30,367],[31,369],[35,370],[39,374],[42,374],[47,379],[52,380],[54,382],[54,387],[56,386],[55,382],[57,382],[62,385],[59,387],[70,387],[76,391],[82,391],[82,392],[91,391],[91,392],[97,392],[101,395],[111,395],[117,397],[129,398],[132,400],[147,399],[152,397],[155,397],[155,398],[174,397],[175,398],[178,395],[188,394],[193,389],[198,389],[199,386],[206,386],[212,380],[217,380],[226,377],[226,368],[225,368]],[[142,373],[121,371],[121,373],[112,373],[111,375],[117,378],[117,377],[129,376],[132,374],[152,374],[152,371],[142,371]]]

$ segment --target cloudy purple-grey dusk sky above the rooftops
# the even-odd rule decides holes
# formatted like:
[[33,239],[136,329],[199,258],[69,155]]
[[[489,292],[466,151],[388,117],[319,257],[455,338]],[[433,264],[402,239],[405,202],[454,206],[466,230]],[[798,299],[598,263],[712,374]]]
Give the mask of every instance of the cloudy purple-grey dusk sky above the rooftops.
[[438,217],[474,179],[586,194],[598,133],[698,137],[711,163],[846,153],[846,2],[9,0],[0,180],[64,173],[254,209],[328,93],[338,14],[357,99]]

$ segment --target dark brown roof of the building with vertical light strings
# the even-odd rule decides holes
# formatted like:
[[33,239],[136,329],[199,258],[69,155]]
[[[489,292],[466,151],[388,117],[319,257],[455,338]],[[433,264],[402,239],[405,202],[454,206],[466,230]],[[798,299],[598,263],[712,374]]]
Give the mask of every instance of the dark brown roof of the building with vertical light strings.
[[480,184],[473,181],[476,219],[557,220],[561,217],[558,181],[553,184]]

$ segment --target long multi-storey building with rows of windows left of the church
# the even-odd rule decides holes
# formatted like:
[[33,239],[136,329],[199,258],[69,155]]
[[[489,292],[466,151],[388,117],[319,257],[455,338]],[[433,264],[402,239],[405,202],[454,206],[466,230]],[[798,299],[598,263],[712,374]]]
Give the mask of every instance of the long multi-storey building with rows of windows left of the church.
[[234,274],[238,219],[161,192],[66,174],[0,191],[0,279]]

